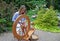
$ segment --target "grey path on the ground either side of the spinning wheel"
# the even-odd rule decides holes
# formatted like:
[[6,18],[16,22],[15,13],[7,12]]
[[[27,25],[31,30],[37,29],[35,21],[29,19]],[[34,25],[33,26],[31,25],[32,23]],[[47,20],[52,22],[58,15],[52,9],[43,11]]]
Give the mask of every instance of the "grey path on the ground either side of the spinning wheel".
[[[36,30],[35,34],[39,37],[37,41],[60,41],[60,33]],[[4,33],[0,35],[0,41],[17,41],[17,39],[14,39],[12,33]]]

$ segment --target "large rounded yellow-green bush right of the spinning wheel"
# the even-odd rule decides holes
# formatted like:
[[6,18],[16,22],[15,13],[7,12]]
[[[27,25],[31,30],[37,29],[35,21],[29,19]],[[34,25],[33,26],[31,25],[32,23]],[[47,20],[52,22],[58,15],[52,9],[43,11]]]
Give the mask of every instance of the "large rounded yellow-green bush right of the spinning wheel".
[[41,28],[52,28],[58,25],[58,18],[57,18],[57,12],[53,10],[53,8],[50,9],[41,9],[38,12],[38,16],[36,20],[34,21],[35,26],[37,29]]

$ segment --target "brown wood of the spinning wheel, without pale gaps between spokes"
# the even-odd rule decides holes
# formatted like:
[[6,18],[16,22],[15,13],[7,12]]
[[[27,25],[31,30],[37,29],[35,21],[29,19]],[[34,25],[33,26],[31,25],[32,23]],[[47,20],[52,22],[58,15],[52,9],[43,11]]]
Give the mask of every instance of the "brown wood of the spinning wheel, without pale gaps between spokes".
[[[16,26],[17,26],[18,22],[21,21],[22,18],[25,18],[25,20],[27,20],[27,22],[28,22],[27,23],[28,25],[26,27],[24,26],[24,24],[22,24],[22,25],[20,24],[20,28],[22,29],[21,31],[24,33],[24,35],[20,35],[16,32]],[[28,40],[31,37],[31,35],[33,34],[34,29],[30,28],[29,17],[26,15],[21,15],[13,23],[12,31],[13,31],[14,37],[17,38],[18,40],[20,40],[20,39]]]

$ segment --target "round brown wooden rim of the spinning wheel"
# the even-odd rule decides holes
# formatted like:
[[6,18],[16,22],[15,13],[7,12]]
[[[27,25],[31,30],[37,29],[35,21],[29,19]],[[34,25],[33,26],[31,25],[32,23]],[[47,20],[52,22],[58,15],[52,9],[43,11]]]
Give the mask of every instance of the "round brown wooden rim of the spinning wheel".
[[[17,32],[16,32],[16,25],[17,23],[19,22],[19,20],[21,20],[21,18],[26,18],[26,20],[28,21],[28,26],[27,26],[27,31],[26,31],[26,34],[24,34],[23,36],[21,35],[18,35]],[[24,37],[26,37],[26,35],[28,35],[28,31],[30,30],[30,19],[28,16],[26,15],[21,15],[19,16],[16,21],[13,23],[13,27],[12,27],[12,31],[13,31],[13,35],[14,37],[16,37],[17,39],[24,39]]]

